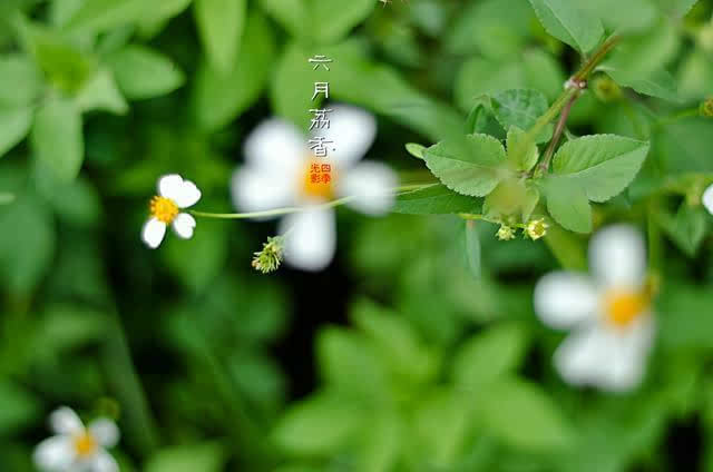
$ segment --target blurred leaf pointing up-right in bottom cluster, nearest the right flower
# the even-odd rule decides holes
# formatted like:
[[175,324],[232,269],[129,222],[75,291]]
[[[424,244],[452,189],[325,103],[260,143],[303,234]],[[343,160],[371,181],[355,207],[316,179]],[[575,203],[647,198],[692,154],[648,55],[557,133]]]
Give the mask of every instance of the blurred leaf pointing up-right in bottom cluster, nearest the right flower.
[[477,392],[519,367],[527,348],[522,326],[501,324],[486,328],[456,353],[451,377],[458,389]]

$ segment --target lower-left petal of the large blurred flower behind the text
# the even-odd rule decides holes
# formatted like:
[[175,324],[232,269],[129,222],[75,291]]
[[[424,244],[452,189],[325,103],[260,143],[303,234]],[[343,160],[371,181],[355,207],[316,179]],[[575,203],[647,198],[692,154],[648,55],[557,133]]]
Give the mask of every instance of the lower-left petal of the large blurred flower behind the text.
[[266,171],[254,166],[233,173],[231,194],[233,205],[242,212],[263,212],[294,204],[296,185],[294,170]]

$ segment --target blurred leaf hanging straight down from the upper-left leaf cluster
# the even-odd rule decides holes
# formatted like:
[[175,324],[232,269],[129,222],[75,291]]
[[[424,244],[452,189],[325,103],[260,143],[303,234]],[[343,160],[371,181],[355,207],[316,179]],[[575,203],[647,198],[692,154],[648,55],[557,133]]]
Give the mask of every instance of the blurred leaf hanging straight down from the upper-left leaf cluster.
[[72,180],[85,158],[81,114],[70,100],[55,97],[37,111],[31,134],[32,150],[39,164],[60,180]]

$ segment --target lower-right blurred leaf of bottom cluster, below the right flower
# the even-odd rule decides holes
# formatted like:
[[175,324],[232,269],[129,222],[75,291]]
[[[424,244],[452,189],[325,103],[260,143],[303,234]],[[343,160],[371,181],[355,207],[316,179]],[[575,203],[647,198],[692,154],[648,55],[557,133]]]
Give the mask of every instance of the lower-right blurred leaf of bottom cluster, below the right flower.
[[490,434],[525,451],[555,451],[572,444],[574,431],[557,404],[537,385],[502,381],[481,396],[478,407]]

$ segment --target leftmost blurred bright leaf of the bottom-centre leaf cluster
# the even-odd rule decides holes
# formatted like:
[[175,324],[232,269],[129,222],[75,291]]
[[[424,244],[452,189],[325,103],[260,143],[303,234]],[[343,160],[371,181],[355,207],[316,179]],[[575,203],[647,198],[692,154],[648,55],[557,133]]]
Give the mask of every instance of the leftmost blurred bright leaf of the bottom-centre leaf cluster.
[[364,412],[350,399],[322,392],[291,406],[273,437],[279,446],[293,453],[333,453],[363,423]]

